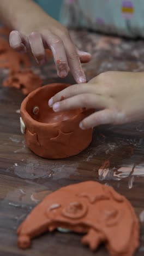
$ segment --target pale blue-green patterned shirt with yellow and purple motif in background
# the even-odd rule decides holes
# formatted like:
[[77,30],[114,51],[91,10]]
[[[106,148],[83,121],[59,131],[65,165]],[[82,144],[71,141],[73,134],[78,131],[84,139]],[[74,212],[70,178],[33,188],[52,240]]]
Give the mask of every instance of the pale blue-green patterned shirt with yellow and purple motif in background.
[[62,0],[35,2],[47,13],[55,2],[53,10],[58,13],[61,9],[60,21],[65,26],[144,37],[144,0],[63,0],[63,4]]

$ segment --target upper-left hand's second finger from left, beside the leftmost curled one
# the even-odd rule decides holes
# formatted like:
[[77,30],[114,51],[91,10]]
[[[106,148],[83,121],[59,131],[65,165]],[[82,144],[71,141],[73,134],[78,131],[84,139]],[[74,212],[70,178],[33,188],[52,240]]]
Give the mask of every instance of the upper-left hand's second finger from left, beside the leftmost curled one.
[[39,32],[32,32],[29,37],[29,44],[31,46],[32,53],[38,63],[45,63],[45,49],[43,45],[43,39]]

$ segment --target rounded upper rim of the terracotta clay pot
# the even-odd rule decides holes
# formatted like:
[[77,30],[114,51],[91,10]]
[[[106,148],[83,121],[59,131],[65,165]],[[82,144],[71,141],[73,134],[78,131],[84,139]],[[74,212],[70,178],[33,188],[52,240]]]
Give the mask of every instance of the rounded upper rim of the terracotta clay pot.
[[[21,114],[21,117],[23,119],[24,122],[28,122],[28,123],[33,123],[34,126],[44,126],[44,127],[48,127],[48,126],[57,126],[61,123],[65,123],[65,122],[69,122],[69,121],[73,121],[75,119],[77,119],[77,116],[79,116],[80,114],[83,113],[83,109],[80,109],[81,111],[77,114],[74,115],[74,117],[71,117],[70,119],[68,120],[64,120],[64,121],[57,121],[55,123],[42,123],[42,122],[39,122],[37,120],[34,120],[31,115],[27,112],[26,110],[26,104],[27,102],[29,101],[29,99],[31,99],[33,97],[34,94],[36,94],[38,91],[40,90],[43,90],[45,88],[45,86],[52,86],[52,87],[55,87],[56,85],[65,85],[65,88],[67,88],[68,86],[70,86],[70,84],[66,84],[66,83],[51,83],[51,84],[46,84],[44,86],[41,86],[40,88],[37,88],[35,89],[34,91],[30,92],[27,97],[22,101],[21,103],[21,109],[20,109],[20,114]],[[47,100],[47,104],[48,104],[48,100]]]

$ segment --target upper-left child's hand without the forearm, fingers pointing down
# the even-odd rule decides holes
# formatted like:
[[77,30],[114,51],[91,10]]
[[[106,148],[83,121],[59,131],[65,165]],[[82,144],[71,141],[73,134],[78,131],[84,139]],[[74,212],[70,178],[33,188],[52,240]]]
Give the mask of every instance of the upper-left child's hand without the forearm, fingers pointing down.
[[9,41],[13,49],[31,50],[41,65],[46,61],[45,48],[50,48],[59,77],[66,77],[70,70],[77,83],[86,82],[81,62],[88,62],[91,55],[77,50],[68,30],[48,15],[45,19],[41,17],[39,24],[34,21],[20,32],[12,31]]

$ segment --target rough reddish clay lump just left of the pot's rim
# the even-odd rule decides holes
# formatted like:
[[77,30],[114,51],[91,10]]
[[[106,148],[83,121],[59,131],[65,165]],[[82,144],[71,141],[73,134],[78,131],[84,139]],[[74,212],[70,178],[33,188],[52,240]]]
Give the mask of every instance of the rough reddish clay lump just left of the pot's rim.
[[29,92],[39,88],[41,85],[42,80],[31,70],[11,72],[9,77],[3,81],[3,86],[21,89],[24,95],[29,94]]

